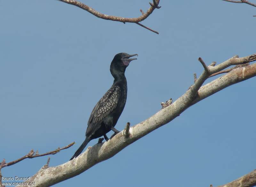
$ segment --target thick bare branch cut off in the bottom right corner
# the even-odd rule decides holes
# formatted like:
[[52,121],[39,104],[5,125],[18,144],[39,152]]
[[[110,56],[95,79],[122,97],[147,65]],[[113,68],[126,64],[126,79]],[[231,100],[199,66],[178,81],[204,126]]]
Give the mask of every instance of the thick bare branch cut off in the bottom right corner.
[[256,169],[231,183],[218,187],[253,187],[256,186]]

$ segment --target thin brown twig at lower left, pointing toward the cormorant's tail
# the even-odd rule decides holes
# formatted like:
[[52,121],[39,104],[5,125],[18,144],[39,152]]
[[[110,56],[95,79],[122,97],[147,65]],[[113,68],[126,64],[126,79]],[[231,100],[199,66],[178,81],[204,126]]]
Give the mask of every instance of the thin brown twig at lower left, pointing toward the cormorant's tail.
[[44,154],[35,154],[34,155],[34,151],[33,151],[33,149],[31,149],[31,151],[27,155],[21,157],[20,159],[11,161],[9,163],[6,163],[3,166],[1,165],[1,168],[4,168],[5,166],[11,166],[11,165],[16,164],[16,163],[20,162],[21,160],[24,160],[24,159],[27,159],[27,158],[32,159],[32,158],[35,158],[35,157],[41,157],[41,156],[45,156],[45,155],[49,155],[49,154],[56,154],[57,152],[60,152],[63,149],[68,149],[69,147],[71,147],[74,144],[75,144],[75,142],[73,142],[73,143],[71,143],[71,144],[69,144],[69,145],[67,145],[65,147],[58,148],[58,149],[56,149],[54,151],[46,152]]

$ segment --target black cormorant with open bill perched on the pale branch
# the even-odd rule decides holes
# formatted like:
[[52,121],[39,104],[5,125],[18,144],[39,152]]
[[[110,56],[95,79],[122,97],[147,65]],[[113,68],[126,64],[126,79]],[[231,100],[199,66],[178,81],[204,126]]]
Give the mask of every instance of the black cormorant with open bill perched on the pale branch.
[[115,132],[114,135],[119,133],[115,129],[115,125],[124,110],[127,98],[127,81],[124,72],[129,63],[137,59],[130,58],[135,55],[138,56],[138,54],[129,55],[127,53],[118,53],[113,58],[110,65],[110,72],[115,79],[114,83],[93,108],[88,120],[85,140],[70,160],[76,158],[92,139],[104,136],[105,140],[108,141],[106,134],[110,130]]

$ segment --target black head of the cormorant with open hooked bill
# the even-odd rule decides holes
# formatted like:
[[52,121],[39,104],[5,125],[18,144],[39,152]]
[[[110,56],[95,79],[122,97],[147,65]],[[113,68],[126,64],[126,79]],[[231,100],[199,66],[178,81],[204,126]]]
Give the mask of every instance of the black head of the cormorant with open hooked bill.
[[138,56],[138,54],[129,55],[127,53],[118,53],[113,58],[110,65],[110,72],[114,76],[117,72],[125,72],[127,66],[129,66],[132,60],[136,60],[137,58],[130,58],[133,56]]

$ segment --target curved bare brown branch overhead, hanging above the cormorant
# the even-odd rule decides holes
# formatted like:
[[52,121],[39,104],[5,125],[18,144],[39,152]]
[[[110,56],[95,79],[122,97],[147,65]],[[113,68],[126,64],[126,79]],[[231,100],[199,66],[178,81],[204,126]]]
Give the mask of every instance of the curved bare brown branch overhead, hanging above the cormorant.
[[81,9],[84,9],[85,11],[87,11],[87,12],[89,12],[89,13],[93,14],[94,16],[96,16],[98,18],[101,18],[101,19],[119,21],[119,22],[122,22],[122,23],[125,23],[125,22],[136,23],[136,24],[140,25],[141,27],[144,27],[144,28],[156,33],[156,34],[159,34],[157,31],[152,30],[151,28],[148,28],[148,27],[142,25],[139,22],[146,19],[155,9],[161,8],[161,6],[158,6],[160,0],[153,0],[153,4],[149,3],[150,8],[148,9],[148,11],[146,13],[144,13],[142,10],[140,10],[142,15],[138,18],[124,18],[124,17],[119,17],[119,16],[110,16],[110,15],[107,15],[107,14],[103,14],[103,13],[100,13],[100,12],[94,10],[93,8],[87,6],[86,4],[83,4],[83,3],[79,2],[79,1],[76,1],[76,0],[59,0],[59,1],[62,1],[62,2],[67,3],[67,4],[73,4],[73,5],[81,8]]

